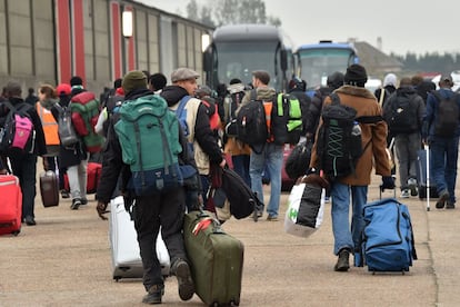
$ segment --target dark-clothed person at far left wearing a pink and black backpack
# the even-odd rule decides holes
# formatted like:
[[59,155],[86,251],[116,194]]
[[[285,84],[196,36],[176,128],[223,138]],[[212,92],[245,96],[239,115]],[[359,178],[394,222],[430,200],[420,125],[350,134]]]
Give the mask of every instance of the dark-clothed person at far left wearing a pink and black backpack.
[[[27,103],[22,97],[21,85],[17,81],[9,81],[6,88],[6,98],[17,109],[28,113],[32,121],[34,130],[32,152],[18,152],[8,156],[11,170],[19,178],[19,185],[22,191],[22,221],[28,226],[36,225],[34,200],[37,195],[37,157],[43,157],[47,154],[47,143],[44,141],[43,127],[36,108]],[[0,109],[0,126],[4,122],[7,115],[11,111],[4,105]],[[2,204],[0,204],[1,206]]]

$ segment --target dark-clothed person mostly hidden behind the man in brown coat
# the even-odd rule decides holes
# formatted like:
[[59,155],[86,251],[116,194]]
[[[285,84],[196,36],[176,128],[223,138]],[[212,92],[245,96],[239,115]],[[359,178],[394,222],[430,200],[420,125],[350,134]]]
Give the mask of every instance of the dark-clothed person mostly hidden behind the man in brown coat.
[[334,71],[328,76],[327,86],[314,91],[309,108],[309,119],[307,120],[306,135],[314,141],[314,135],[318,129],[319,119],[321,117],[322,102],[332,91],[343,86],[343,73]]

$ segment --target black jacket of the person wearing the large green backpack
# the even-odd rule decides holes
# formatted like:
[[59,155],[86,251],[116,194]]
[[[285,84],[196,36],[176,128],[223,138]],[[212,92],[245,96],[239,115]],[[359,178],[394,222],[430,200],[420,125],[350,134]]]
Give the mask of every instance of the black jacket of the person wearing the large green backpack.
[[[137,98],[153,95],[150,90],[133,90],[124,98],[128,100],[136,100]],[[103,202],[109,202],[112,198],[113,191],[117,189],[118,179],[121,174],[120,191],[127,191],[128,181],[131,178],[131,170],[122,160],[122,151],[120,141],[114,130],[114,125],[120,119],[119,113],[114,113],[110,118],[109,131],[107,136],[106,148],[102,152],[102,174],[98,186],[97,199]],[[179,141],[182,145],[182,152],[179,155],[179,160],[183,164],[194,166],[193,157],[189,154],[187,139],[179,125]]]

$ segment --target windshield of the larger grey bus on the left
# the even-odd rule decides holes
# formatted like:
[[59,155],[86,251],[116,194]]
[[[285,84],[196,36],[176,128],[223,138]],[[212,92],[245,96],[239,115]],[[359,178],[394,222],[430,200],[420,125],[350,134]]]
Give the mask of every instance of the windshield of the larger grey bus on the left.
[[229,85],[231,79],[238,78],[248,85],[252,81],[253,70],[266,70],[272,78],[270,86],[277,88],[278,78],[274,71],[276,61],[279,61],[277,47],[278,41],[216,43],[219,82]]

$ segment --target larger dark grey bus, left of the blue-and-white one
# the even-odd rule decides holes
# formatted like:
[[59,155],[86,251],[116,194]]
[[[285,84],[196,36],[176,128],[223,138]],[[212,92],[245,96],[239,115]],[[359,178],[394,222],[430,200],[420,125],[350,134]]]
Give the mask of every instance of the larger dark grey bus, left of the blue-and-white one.
[[233,78],[244,85],[253,70],[270,73],[270,87],[284,91],[294,73],[292,44],[280,28],[269,24],[231,24],[214,30],[203,52],[206,83],[217,90]]

